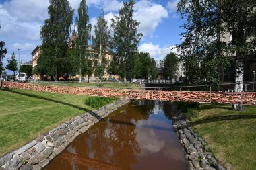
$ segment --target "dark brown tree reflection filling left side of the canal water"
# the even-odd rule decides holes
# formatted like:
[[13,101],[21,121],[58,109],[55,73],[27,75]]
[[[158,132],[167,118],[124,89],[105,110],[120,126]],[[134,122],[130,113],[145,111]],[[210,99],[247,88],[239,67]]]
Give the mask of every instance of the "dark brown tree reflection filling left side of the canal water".
[[[79,136],[67,151],[61,153],[57,169],[130,169],[131,164],[137,163],[136,155],[140,152],[134,123],[148,119],[153,110],[154,101],[129,103],[117,110],[110,118]],[[77,159],[65,159],[67,155]],[[82,161],[79,162],[78,157]]]

